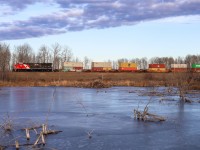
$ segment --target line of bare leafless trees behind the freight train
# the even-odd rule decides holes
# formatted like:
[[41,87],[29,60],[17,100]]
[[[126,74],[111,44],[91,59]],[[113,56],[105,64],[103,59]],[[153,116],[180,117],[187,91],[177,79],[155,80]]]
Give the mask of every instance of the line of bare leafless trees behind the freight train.
[[[38,52],[34,52],[33,48],[29,44],[22,44],[14,46],[11,52],[9,44],[0,43],[0,72],[1,78],[5,78],[5,73],[11,71],[15,63],[52,63],[53,69],[62,68],[63,62],[80,62],[81,59],[73,55],[72,50],[67,46],[61,46],[58,43],[46,46],[41,45]],[[81,61],[84,64],[85,69],[90,69],[92,59],[87,56]],[[143,58],[121,58],[115,61],[106,60],[105,62],[112,62],[113,68],[118,68],[119,62],[133,62],[137,63],[139,69],[147,69],[148,64],[158,63],[166,64],[169,68],[171,64],[187,64],[191,66],[193,63],[200,63],[200,55],[187,55],[185,57],[153,57],[147,59]]]

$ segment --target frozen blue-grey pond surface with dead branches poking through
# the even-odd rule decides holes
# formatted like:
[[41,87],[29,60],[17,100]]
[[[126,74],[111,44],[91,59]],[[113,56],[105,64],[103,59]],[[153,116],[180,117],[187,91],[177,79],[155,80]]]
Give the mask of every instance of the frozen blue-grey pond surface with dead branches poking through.
[[[200,93],[188,94],[194,102],[182,104],[175,88],[170,94],[167,90],[165,87],[0,88],[0,123],[9,115],[14,128],[12,135],[0,133],[0,145],[10,144],[7,139],[17,138],[26,143],[21,137],[24,131],[20,129],[48,121],[50,128],[62,132],[49,135],[44,149],[200,149]],[[157,94],[149,94],[152,91]],[[134,119],[133,109],[139,106],[143,110],[149,101],[149,112],[164,116],[166,121]],[[87,136],[90,131],[91,139]],[[29,142],[33,143],[35,138],[31,132]]]

